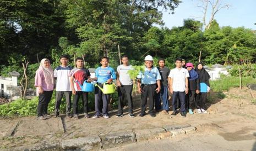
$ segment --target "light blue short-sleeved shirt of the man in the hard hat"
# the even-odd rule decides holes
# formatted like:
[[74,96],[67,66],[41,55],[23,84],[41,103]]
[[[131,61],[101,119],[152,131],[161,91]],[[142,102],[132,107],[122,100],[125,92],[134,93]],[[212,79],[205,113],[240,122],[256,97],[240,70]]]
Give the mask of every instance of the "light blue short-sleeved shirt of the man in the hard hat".
[[149,70],[145,67],[144,74],[140,72],[137,78],[141,79],[141,84],[156,84],[157,80],[161,80],[161,75],[157,68]]

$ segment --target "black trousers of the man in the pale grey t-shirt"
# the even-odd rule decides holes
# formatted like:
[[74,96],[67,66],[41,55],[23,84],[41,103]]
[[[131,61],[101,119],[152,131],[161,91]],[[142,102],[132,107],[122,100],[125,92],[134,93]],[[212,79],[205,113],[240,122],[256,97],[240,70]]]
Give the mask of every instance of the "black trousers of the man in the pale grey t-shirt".
[[123,113],[123,106],[124,106],[124,96],[126,95],[127,101],[128,101],[128,112],[133,113],[133,97],[132,97],[132,92],[133,92],[133,85],[122,85],[118,86],[117,88],[118,92],[118,113],[122,114]]

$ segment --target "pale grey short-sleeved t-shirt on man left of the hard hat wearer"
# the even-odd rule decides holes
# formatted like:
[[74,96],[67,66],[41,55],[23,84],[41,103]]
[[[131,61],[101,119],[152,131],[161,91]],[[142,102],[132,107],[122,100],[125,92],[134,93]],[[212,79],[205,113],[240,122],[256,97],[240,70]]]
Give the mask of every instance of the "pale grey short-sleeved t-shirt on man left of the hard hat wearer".
[[127,73],[129,70],[132,70],[133,66],[124,66],[119,65],[117,67],[117,72],[119,73],[119,81],[122,85],[133,85],[133,79],[130,78],[130,75]]

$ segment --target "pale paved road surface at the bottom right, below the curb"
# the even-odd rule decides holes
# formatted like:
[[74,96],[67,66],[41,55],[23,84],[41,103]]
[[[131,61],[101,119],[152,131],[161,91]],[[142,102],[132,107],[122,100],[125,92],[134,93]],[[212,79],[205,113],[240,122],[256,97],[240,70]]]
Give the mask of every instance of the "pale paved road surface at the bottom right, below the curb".
[[[239,138],[238,138],[239,139]],[[116,147],[112,150],[256,150],[256,139],[242,141],[227,141],[224,137],[214,135],[190,135],[165,140],[151,140],[127,144],[126,146]]]

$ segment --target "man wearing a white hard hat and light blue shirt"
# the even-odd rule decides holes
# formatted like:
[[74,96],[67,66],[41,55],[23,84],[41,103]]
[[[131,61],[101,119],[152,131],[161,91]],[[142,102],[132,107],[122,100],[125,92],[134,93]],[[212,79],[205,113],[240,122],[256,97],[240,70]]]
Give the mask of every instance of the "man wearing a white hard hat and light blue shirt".
[[155,93],[159,93],[161,90],[161,75],[159,70],[153,66],[153,57],[148,55],[145,57],[145,71],[139,73],[138,79],[138,91],[141,94],[141,113],[140,117],[146,115],[146,100],[149,97],[149,114],[151,117],[156,115],[154,110]]

